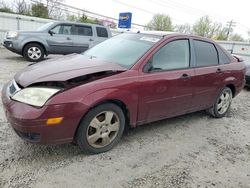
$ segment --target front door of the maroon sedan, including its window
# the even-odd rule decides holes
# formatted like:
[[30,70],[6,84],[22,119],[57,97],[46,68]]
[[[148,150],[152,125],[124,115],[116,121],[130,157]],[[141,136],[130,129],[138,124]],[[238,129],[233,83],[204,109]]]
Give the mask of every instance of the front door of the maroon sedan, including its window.
[[184,114],[192,100],[194,69],[190,68],[188,39],[174,40],[160,48],[139,77],[138,122],[151,122]]

